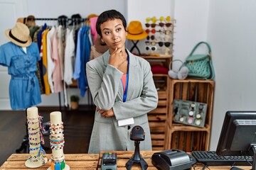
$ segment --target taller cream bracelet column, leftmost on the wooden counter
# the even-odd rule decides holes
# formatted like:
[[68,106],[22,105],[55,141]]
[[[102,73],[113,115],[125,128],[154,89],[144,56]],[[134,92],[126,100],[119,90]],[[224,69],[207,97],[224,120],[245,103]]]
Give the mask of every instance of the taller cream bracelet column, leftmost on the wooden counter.
[[25,162],[28,168],[38,168],[48,161],[46,152],[41,146],[43,144],[43,135],[41,134],[41,116],[38,115],[38,108],[31,107],[27,109],[28,125],[28,144],[30,156]]

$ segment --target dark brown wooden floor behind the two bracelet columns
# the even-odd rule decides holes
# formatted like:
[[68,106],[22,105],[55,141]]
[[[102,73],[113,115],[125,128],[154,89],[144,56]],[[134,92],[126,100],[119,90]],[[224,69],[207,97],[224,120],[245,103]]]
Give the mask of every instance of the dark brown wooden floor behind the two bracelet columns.
[[[43,116],[43,123],[50,120],[50,113],[60,111],[60,108],[40,108],[38,113]],[[70,111],[62,108],[62,119],[64,123],[65,154],[86,154],[92,125],[94,122],[95,108],[80,107],[77,111]],[[23,137],[26,135],[26,112],[25,111],[0,111],[0,166],[6,159],[21,149]],[[44,135],[46,153],[50,154],[51,149],[48,135]],[[25,149],[21,153],[26,153]]]

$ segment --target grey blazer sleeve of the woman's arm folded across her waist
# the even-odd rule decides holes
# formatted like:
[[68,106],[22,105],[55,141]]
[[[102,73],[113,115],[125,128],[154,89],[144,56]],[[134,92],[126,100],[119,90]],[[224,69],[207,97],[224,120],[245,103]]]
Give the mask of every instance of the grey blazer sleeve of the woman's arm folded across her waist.
[[142,94],[126,102],[116,101],[113,106],[114,115],[117,120],[136,118],[137,116],[149,113],[156,108],[158,94],[154,84],[153,74],[149,62],[145,62],[144,84]]

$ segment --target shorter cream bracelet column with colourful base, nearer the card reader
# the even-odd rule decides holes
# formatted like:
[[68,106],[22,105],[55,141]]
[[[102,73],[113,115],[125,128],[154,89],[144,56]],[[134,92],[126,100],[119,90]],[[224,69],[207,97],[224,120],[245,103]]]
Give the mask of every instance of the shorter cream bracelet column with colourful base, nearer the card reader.
[[55,111],[50,113],[50,149],[52,149],[52,157],[48,170],[70,169],[70,166],[65,164],[65,156],[63,153],[64,144],[61,112]]

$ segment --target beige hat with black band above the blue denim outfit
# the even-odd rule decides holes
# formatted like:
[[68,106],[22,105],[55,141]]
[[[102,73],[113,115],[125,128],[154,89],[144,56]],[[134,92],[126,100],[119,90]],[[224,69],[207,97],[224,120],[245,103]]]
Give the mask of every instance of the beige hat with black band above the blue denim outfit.
[[23,23],[16,23],[14,28],[5,31],[6,37],[14,42],[14,44],[21,47],[28,47],[31,45],[31,37],[29,35],[28,27]]

